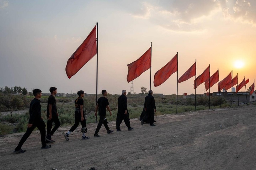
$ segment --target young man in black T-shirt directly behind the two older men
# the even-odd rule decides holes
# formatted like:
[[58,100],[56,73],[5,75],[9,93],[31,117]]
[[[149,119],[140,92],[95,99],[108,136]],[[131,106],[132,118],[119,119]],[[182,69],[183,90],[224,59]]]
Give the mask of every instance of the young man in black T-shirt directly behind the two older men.
[[108,128],[108,125],[107,125],[108,122],[107,122],[107,118],[106,118],[106,108],[108,109],[108,112],[110,112],[110,115],[112,115],[110,108],[109,108],[108,100],[106,98],[107,91],[102,90],[101,93],[103,96],[98,99],[97,105],[95,108],[95,116],[97,116],[97,109],[98,109],[98,112],[99,112],[98,115],[100,116],[100,120],[98,122],[98,126],[94,133],[94,137],[100,137],[98,132],[100,131],[102,124],[105,126],[108,134],[111,134],[113,132],[113,130],[110,130],[110,128]]

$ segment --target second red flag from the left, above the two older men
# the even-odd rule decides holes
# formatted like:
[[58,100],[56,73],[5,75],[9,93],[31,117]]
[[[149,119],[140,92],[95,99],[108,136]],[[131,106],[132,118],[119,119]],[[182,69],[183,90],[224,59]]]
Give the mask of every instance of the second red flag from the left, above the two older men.
[[151,47],[138,60],[128,64],[127,66],[127,81],[129,83],[151,67]]

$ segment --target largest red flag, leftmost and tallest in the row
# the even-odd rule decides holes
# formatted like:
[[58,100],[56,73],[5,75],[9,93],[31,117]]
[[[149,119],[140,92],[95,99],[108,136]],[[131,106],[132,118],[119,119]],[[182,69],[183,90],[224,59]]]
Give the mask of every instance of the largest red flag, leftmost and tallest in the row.
[[66,74],[70,79],[75,75],[95,54],[97,53],[96,46],[96,26],[91,33],[76,49],[73,55],[69,58],[66,65]]

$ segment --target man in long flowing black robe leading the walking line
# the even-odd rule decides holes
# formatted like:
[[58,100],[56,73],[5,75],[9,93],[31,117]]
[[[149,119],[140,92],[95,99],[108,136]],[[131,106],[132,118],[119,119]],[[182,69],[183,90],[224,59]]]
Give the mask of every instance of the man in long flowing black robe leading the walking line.
[[144,122],[149,121],[150,126],[155,126],[154,123],[154,117],[156,112],[156,106],[155,106],[155,98],[152,96],[153,91],[149,90],[148,96],[145,97],[145,103],[144,103],[144,110],[146,112],[144,118],[140,121],[140,123],[143,125]]

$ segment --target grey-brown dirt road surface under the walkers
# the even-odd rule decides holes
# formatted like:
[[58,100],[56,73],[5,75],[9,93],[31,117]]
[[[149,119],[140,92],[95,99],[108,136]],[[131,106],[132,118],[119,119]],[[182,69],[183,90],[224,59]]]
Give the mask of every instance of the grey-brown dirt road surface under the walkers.
[[[240,106],[155,117],[156,126],[130,120],[134,130],[102,126],[93,137],[96,124],[88,124],[89,140],[81,132],[65,141],[60,127],[52,148],[41,150],[39,131],[24,143],[26,153],[12,151],[24,133],[0,137],[0,169],[11,170],[255,170],[256,106]],[[80,126],[76,130],[80,130]],[[161,148],[160,148],[161,146]]]

